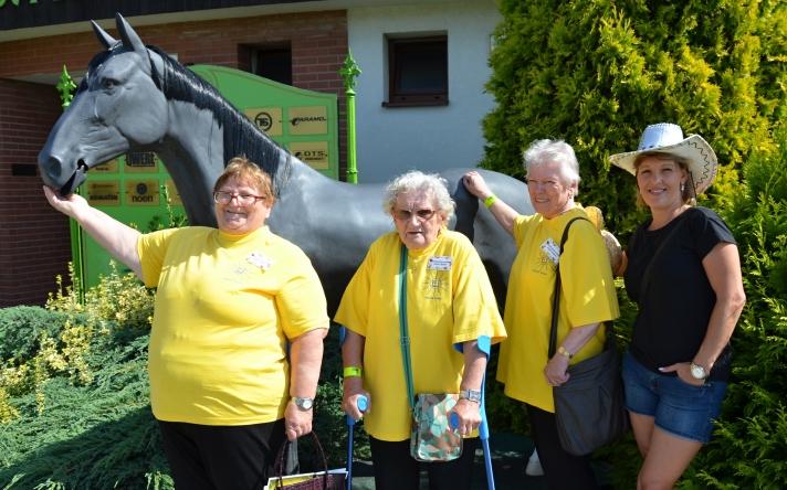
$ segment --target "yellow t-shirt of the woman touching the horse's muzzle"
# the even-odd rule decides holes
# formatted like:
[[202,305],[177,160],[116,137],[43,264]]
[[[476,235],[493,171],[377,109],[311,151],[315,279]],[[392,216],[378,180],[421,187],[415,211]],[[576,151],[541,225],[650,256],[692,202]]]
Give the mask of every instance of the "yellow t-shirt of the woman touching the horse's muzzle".
[[143,235],[143,279],[157,286],[150,333],[156,418],[250,425],[284,414],[287,339],[327,328],[306,255],[267,227],[248,235],[186,227]]

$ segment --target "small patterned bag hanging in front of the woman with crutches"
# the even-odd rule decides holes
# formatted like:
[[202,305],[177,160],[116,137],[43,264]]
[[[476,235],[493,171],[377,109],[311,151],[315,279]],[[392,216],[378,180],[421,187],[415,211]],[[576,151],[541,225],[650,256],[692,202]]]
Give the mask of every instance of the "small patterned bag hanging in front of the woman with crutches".
[[462,436],[451,428],[455,393],[421,393],[416,398],[410,433],[410,456],[419,461],[451,461],[462,455]]

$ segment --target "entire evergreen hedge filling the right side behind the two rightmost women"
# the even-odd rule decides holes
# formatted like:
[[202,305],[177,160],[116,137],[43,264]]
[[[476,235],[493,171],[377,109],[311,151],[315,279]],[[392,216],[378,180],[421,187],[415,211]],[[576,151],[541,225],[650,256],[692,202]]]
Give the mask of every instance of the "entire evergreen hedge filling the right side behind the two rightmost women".
[[[747,307],[733,335],[733,384],[715,430],[681,488],[787,488],[787,3],[501,0],[484,119],[483,167],[523,177],[522,151],[565,139],[580,162],[584,204],[605,211],[621,242],[643,219],[636,182],[609,155],[636,149],[642,129],[671,121],[702,135],[721,168],[701,204],[738,241]],[[634,313],[620,290],[621,342]],[[496,429],[511,403],[493,393]],[[497,424],[502,422],[503,424]],[[617,488],[632,488],[632,438],[599,450]]]

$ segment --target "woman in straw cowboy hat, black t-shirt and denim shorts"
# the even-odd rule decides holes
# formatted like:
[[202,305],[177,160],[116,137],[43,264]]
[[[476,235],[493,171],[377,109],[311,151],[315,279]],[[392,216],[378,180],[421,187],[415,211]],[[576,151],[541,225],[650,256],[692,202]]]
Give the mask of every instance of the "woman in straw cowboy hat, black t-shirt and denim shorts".
[[730,377],[730,337],[745,303],[735,238],[694,206],[716,173],[700,136],[648,126],[610,162],[637,178],[650,209],[629,242],[626,290],[639,306],[623,358],[626,403],[644,458],[637,488],[672,488],[704,443]]

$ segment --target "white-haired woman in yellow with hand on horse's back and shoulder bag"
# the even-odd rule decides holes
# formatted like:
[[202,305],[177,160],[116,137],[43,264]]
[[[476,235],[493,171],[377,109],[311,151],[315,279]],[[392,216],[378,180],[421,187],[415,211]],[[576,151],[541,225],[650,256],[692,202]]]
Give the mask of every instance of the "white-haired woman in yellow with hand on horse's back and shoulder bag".
[[[568,366],[604,350],[605,322],[619,316],[609,255],[596,226],[574,199],[579,192],[579,162],[565,141],[542,139],[525,151],[527,192],[536,213],[522,215],[492,194],[479,172],[464,185],[481,199],[516,242],[505,300],[510,338],[501,348],[497,381],[505,394],[523,402],[531,435],[550,489],[592,489],[589,456],[560,446],[553,387],[568,381]],[[568,222],[576,221],[560,251]],[[549,358],[552,298],[559,266],[562,296],[557,350]]]

